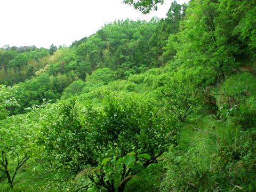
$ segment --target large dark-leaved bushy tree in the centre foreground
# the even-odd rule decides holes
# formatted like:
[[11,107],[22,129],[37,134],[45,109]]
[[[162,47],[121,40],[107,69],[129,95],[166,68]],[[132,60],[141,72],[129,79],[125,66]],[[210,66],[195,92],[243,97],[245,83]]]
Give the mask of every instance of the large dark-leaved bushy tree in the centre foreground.
[[44,156],[51,154],[55,170],[90,172],[80,186],[85,189],[124,191],[133,175],[176,145],[170,116],[142,98],[109,98],[102,108],[88,105],[84,113],[79,117],[74,101],[63,105],[57,121],[43,130],[42,142],[48,143]]

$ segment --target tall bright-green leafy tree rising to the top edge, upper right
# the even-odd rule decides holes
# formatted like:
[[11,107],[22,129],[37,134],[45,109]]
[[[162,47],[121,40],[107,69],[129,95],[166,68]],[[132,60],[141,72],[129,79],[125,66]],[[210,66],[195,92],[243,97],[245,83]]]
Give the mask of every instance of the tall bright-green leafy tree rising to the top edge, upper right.
[[220,82],[231,68],[237,66],[234,55],[238,45],[229,43],[218,6],[218,1],[190,2],[187,19],[182,22],[175,47],[178,63],[211,68],[216,71]]

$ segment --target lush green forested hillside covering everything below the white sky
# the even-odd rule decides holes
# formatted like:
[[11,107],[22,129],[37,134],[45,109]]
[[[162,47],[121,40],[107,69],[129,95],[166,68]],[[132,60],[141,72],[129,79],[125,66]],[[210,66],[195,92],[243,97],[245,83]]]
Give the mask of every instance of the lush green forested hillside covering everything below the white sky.
[[0,191],[256,191],[255,15],[173,1],[70,46],[0,49]]

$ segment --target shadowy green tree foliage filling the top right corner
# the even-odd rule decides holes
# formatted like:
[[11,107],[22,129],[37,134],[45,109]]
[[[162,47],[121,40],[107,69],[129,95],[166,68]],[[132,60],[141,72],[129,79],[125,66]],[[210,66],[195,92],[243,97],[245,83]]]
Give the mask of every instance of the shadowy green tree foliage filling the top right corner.
[[[255,59],[255,31],[256,25],[254,16],[256,14],[255,1],[230,1],[222,0],[219,10],[222,18],[223,28],[231,40],[230,43],[238,44],[239,57],[248,55],[251,59]],[[230,18],[230,15],[232,16]],[[242,45],[243,44],[243,45]],[[241,46],[242,45],[242,46]],[[240,58],[239,58],[240,59]]]

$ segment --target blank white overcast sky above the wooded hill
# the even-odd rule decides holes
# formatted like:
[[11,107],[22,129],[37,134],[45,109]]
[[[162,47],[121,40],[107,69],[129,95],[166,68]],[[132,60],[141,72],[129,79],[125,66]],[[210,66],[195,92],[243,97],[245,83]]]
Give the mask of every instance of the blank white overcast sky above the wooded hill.
[[[2,0],[0,47],[71,45],[116,19],[164,18],[173,0],[143,15],[122,0]],[[177,0],[178,3],[188,0]]]

